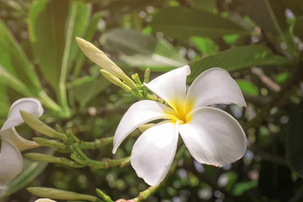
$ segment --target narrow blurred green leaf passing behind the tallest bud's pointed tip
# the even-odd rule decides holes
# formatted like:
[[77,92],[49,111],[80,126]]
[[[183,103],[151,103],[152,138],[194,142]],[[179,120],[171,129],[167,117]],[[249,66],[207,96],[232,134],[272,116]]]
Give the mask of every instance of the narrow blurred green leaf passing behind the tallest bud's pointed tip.
[[[87,41],[90,41],[92,39],[92,37],[95,34],[95,31],[97,29],[97,24],[98,24],[99,20],[101,19],[101,17],[102,17],[102,14],[100,12],[93,14],[93,16],[90,19],[89,25],[87,27],[87,30],[84,34],[83,39],[85,39]],[[77,47],[77,49],[80,50],[79,47]],[[77,54],[75,70],[74,70],[74,73],[73,73],[74,79],[76,77],[78,77],[78,75],[81,71],[81,68],[84,64],[85,59],[86,59],[86,56],[83,54],[82,51],[79,51],[78,54]]]

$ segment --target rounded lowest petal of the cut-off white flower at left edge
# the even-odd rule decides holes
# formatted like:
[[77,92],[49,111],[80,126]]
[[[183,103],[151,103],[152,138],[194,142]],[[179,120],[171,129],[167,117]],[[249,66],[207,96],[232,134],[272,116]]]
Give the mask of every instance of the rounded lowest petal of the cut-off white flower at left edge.
[[22,171],[20,151],[13,144],[2,140],[0,151],[0,185],[12,182]]

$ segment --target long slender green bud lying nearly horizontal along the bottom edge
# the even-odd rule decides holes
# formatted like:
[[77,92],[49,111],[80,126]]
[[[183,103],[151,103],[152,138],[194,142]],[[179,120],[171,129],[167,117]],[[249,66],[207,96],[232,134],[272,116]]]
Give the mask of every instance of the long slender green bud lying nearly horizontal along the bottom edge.
[[97,199],[95,196],[91,195],[85,195],[47,187],[29,187],[27,188],[27,190],[34,195],[44,198],[54,198],[63,200],[88,200],[92,202],[95,202]]

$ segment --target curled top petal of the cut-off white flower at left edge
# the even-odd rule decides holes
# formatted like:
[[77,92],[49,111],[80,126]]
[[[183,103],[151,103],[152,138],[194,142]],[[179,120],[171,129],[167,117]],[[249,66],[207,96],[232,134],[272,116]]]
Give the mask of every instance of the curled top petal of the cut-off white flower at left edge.
[[18,99],[10,108],[7,121],[3,124],[0,131],[6,130],[22,124],[24,121],[20,115],[20,110],[24,110],[39,118],[43,114],[43,108],[38,99],[25,97]]

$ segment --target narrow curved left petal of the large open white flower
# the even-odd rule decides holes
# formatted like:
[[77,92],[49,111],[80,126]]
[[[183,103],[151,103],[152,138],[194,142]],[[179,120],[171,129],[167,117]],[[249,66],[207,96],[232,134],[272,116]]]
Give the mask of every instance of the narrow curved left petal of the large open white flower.
[[176,119],[174,110],[155,101],[142,100],[133,104],[121,119],[114,136],[115,154],[121,142],[139,126],[156,119]]

